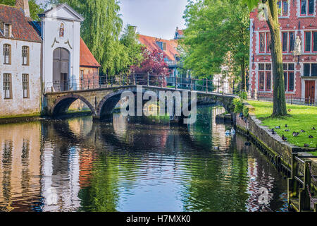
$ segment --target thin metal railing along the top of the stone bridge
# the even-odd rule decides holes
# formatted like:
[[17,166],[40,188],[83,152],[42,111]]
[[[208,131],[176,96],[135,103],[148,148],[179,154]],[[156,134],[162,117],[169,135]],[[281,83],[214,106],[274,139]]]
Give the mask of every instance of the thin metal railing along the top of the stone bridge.
[[233,94],[233,90],[223,84],[215,85],[207,78],[186,78],[181,76],[159,76],[149,73],[132,73],[120,76],[106,76],[97,78],[82,78],[77,80],[45,83],[45,93],[59,93],[71,90],[94,90],[99,88],[120,87],[125,85],[144,85],[175,90],[192,90],[205,93]]

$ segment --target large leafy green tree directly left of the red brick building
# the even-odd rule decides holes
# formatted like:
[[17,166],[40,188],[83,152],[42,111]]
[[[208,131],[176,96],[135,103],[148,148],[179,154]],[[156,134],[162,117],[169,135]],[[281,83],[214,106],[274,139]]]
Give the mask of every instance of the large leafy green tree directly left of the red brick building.
[[[235,5],[232,7],[232,5]],[[246,90],[245,71],[249,62],[249,11],[239,0],[189,1],[184,16],[187,29],[185,68],[197,77],[221,73],[229,66]],[[228,53],[232,60],[228,61]],[[224,65],[225,61],[230,65]]]

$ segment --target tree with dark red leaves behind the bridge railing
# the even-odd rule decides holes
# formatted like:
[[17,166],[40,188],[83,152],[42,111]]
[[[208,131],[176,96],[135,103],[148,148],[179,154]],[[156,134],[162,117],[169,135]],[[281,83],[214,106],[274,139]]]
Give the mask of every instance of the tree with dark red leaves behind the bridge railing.
[[166,76],[168,76],[168,65],[164,61],[163,53],[154,50],[149,52],[145,47],[142,49],[143,61],[139,66],[131,66],[131,71],[135,73],[135,79],[139,85],[147,85],[149,74],[149,85],[166,86]]

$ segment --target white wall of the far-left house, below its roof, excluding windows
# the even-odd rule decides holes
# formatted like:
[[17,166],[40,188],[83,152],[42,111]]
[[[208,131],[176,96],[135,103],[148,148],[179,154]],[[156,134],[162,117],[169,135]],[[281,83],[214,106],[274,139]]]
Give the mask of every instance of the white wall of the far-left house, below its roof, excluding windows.
[[[11,65],[4,64],[4,44],[11,44]],[[29,47],[30,64],[22,65],[22,47]],[[4,99],[4,73],[11,73],[12,99]],[[29,75],[30,97],[23,98],[22,74]],[[37,114],[41,102],[41,43],[0,38],[0,117]]]

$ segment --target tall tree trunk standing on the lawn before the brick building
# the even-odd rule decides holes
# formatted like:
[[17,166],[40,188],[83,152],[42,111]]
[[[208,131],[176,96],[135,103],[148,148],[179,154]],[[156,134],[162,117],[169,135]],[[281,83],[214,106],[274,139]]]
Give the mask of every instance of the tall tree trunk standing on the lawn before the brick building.
[[[259,0],[242,0],[250,10],[258,6]],[[285,101],[284,71],[282,66],[282,44],[280,40],[280,23],[278,22],[277,0],[261,0],[260,12],[266,14],[266,22],[271,32],[271,56],[273,71],[273,113],[271,117],[287,115]]]

